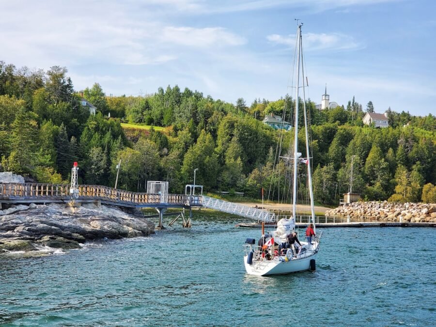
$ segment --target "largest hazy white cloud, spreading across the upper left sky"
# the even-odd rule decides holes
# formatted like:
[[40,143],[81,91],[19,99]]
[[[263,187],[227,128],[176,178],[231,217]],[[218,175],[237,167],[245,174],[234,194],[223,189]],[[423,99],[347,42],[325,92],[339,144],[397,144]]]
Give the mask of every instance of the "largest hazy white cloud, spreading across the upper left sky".
[[[76,6],[57,1],[7,3],[2,9],[8,14],[0,20],[1,52],[6,54],[2,59],[45,68],[83,62],[156,65],[176,60],[183,47],[234,47],[246,42],[219,26],[173,26],[154,15],[155,6],[194,10],[196,1],[133,4],[80,0]],[[86,10],[79,10],[82,7]]]

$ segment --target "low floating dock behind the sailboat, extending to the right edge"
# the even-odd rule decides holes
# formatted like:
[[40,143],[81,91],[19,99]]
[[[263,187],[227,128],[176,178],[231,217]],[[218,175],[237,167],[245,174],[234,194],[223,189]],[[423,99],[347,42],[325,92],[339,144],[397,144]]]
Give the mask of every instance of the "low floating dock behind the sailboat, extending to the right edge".
[[[307,223],[297,222],[296,228],[306,228]],[[240,223],[236,227],[245,228],[262,228],[259,223]],[[274,224],[265,224],[265,228],[274,228]],[[351,228],[368,228],[368,227],[436,227],[435,222],[387,222],[387,221],[351,221],[351,222],[322,222],[316,224],[316,228],[338,228],[338,227],[351,227]]]

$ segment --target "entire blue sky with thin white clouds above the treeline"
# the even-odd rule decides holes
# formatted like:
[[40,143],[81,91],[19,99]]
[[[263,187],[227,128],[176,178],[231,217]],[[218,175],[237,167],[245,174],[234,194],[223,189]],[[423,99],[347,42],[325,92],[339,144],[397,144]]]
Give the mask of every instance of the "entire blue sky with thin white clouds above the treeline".
[[76,90],[177,84],[214,99],[274,101],[293,69],[296,21],[308,97],[436,115],[434,0],[0,0],[0,60],[66,66]]

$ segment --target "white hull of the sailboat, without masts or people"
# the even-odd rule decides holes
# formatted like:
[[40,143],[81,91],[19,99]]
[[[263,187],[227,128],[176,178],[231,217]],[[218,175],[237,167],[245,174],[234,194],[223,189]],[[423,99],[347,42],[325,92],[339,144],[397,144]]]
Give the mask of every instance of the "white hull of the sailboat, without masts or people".
[[268,275],[282,275],[293,272],[306,271],[311,269],[311,260],[316,259],[318,254],[319,243],[313,244],[312,254],[297,257],[289,261],[285,261],[283,256],[274,257],[272,260],[261,259],[254,261],[249,265],[247,263],[248,255],[244,256],[245,270],[250,275],[255,276],[268,276]]

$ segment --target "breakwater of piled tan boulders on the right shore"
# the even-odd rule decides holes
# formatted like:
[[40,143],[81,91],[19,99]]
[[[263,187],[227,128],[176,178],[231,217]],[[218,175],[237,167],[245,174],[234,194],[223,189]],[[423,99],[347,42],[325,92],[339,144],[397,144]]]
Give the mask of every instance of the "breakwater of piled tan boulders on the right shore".
[[435,203],[353,202],[326,211],[327,217],[350,216],[351,221],[436,222]]

